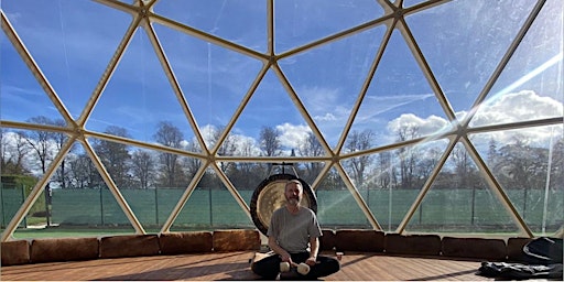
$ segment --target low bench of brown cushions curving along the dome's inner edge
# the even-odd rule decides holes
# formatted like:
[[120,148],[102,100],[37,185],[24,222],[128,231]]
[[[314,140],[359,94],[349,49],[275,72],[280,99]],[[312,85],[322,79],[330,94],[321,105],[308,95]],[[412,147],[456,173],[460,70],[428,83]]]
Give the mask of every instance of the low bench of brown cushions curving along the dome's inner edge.
[[[376,230],[323,230],[322,251],[381,252],[398,256],[440,256],[482,260],[517,260],[530,238],[454,238],[438,235],[399,235]],[[1,264],[77,261],[120,257],[260,251],[258,230],[120,235],[99,238],[14,240],[1,243]]]

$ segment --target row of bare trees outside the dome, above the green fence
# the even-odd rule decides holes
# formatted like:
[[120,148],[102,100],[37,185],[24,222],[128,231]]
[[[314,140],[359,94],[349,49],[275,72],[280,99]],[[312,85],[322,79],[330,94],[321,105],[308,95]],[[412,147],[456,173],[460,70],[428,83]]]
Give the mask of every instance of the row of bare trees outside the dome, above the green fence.
[[[64,127],[63,120],[34,117],[32,123]],[[212,131],[210,142],[215,144],[224,128]],[[110,126],[104,133],[131,138],[124,128]],[[11,138],[8,138],[10,134]],[[416,126],[403,126],[393,132],[395,141],[419,138]],[[2,175],[32,175],[45,173],[56,152],[61,150],[67,135],[48,131],[1,131],[1,173]],[[180,128],[170,121],[159,122],[153,140],[170,148],[198,152],[195,141],[186,141]],[[261,156],[321,156],[325,151],[313,133],[300,140],[296,148],[283,148],[281,132],[272,127],[263,127],[257,141],[228,134],[217,151],[218,155],[261,155]],[[523,137],[516,135],[511,144],[499,147],[491,139],[486,163],[505,188],[543,188],[547,176],[553,188],[564,182],[562,173],[564,142],[556,140],[552,150],[530,145]],[[344,152],[358,152],[375,147],[375,132],[371,130],[351,131],[345,143]],[[202,165],[202,160],[166,152],[134,149],[131,145],[93,139],[91,145],[109,175],[120,188],[173,188],[186,187]],[[365,154],[341,161],[343,166],[359,189],[421,188],[443,153],[440,147],[401,147],[394,151],[378,154]],[[547,162],[549,156],[552,163]],[[549,165],[550,164],[550,165]],[[273,164],[248,162],[220,162],[219,169],[231,183],[241,189],[253,189],[272,171]],[[312,183],[323,170],[322,162],[294,165],[300,177]],[[549,173],[550,170],[550,173]],[[99,172],[80,145],[73,147],[50,186],[59,188],[99,188],[105,187]],[[468,152],[456,145],[449,156],[449,164],[438,174],[434,188],[476,188],[484,187],[484,178]],[[220,178],[213,170],[207,171],[198,187],[223,187]],[[335,170],[330,170],[319,189],[344,189],[345,185]],[[48,191],[48,187],[47,187]]]

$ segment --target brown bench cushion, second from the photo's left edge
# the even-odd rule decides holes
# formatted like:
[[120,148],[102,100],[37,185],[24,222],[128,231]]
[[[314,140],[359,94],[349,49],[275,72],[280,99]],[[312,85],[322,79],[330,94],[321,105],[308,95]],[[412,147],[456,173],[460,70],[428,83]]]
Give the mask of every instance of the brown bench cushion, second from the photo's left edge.
[[32,262],[97,259],[98,238],[34,239],[30,258]]

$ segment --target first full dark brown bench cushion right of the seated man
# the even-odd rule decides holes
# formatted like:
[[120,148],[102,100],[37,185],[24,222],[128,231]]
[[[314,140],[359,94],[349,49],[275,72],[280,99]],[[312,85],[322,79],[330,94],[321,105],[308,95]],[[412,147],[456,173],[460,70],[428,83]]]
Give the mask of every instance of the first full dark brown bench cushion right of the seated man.
[[376,230],[343,229],[335,232],[337,251],[383,251],[384,234]]

